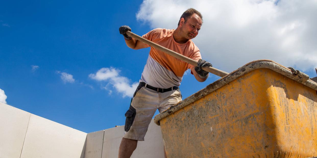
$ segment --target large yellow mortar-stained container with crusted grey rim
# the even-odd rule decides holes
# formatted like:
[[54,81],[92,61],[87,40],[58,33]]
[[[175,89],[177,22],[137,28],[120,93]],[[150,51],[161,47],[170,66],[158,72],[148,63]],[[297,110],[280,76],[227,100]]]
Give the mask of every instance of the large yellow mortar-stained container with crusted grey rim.
[[170,158],[317,156],[317,83],[270,60],[250,62],[161,112]]

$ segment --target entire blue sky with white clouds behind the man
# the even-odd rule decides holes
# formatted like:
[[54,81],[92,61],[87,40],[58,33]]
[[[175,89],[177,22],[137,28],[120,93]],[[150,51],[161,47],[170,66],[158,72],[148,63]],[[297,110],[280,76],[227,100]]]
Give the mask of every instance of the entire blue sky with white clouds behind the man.
[[[124,125],[131,85],[139,81],[149,48],[128,48],[119,27],[129,25],[139,35],[175,28],[191,7],[204,16],[194,42],[214,67],[231,72],[271,59],[316,76],[317,3],[254,2],[4,1],[0,89],[7,104],[80,131]],[[201,83],[187,73],[183,98],[219,78]]]

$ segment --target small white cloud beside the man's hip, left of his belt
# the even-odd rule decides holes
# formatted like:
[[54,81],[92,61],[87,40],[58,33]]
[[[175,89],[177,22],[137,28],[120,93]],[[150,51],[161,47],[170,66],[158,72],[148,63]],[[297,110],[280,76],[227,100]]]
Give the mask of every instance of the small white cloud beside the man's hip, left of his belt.
[[117,92],[122,94],[123,98],[127,96],[132,97],[139,82],[130,84],[130,80],[127,77],[120,76],[119,73],[120,70],[113,67],[101,68],[95,74],[90,74],[89,77],[97,81],[108,82],[103,88],[106,89],[109,94],[112,94],[111,88],[114,88]]

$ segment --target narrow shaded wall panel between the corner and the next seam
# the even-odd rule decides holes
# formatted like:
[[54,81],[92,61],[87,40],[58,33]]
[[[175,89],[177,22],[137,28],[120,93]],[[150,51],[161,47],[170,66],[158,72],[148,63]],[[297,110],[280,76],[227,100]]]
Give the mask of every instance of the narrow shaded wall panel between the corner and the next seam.
[[101,158],[105,130],[87,134],[85,158]]

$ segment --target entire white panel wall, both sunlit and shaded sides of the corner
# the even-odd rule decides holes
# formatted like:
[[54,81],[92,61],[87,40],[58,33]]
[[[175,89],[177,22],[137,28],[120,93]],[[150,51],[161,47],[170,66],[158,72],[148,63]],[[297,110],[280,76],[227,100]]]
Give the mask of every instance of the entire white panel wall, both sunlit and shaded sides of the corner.
[[[87,134],[0,103],[0,158],[115,158],[123,133],[119,126]],[[132,155],[148,157],[164,157],[161,128],[153,120]]]

